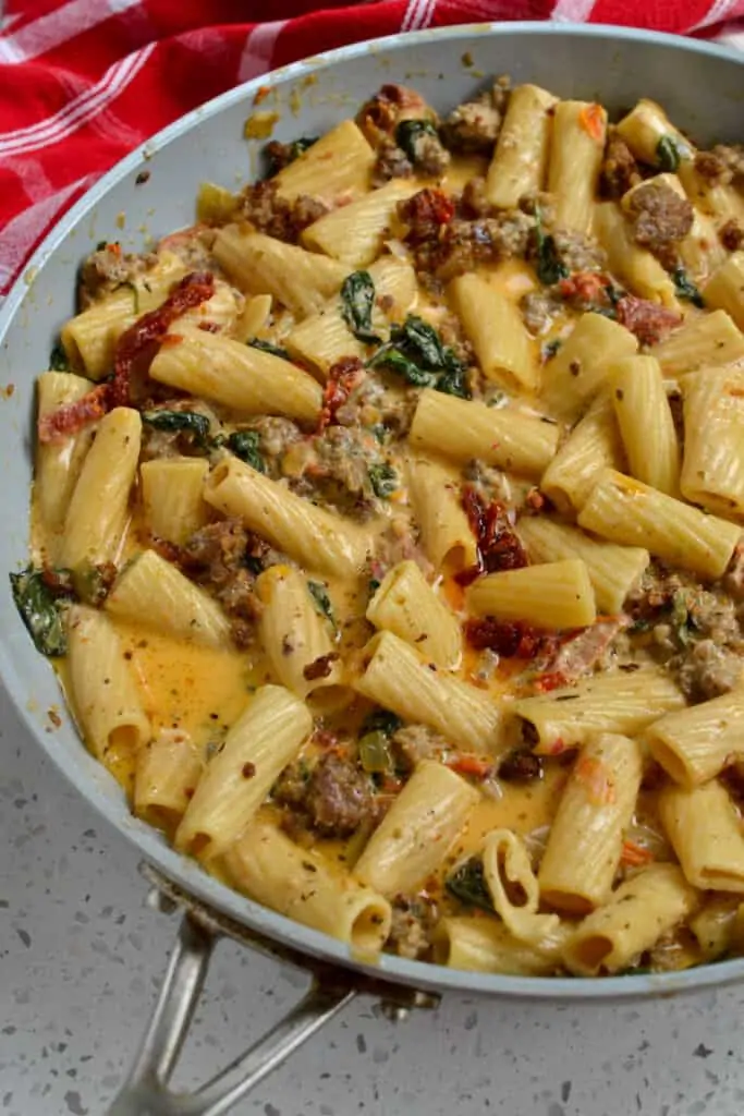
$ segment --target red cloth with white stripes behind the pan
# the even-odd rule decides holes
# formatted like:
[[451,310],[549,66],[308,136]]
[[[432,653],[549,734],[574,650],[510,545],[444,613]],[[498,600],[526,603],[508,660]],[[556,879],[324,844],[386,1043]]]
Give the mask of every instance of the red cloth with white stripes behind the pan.
[[0,297],[54,222],[117,160],[277,66],[454,23],[545,19],[699,33],[744,17],[744,0],[325,0],[321,10],[313,0],[10,0],[9,8],[0,16]]

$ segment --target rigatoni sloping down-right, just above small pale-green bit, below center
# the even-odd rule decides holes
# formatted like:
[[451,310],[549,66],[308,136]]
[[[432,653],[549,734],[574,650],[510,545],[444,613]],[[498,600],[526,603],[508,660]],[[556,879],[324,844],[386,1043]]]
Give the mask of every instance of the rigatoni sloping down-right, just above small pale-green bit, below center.
[[437,670],[392,632],[373,636],[364,650],[364,663],[354,689],[365,698],[404,721],[436,729],[461,748],[497,751],[500,709],[482,690]]

